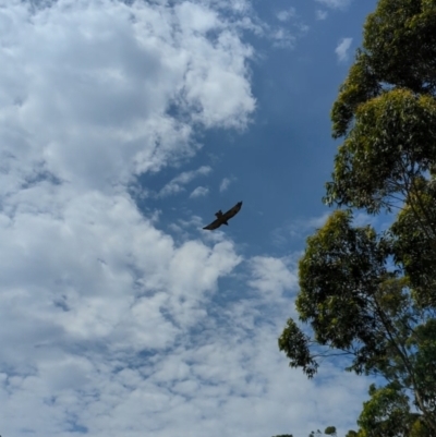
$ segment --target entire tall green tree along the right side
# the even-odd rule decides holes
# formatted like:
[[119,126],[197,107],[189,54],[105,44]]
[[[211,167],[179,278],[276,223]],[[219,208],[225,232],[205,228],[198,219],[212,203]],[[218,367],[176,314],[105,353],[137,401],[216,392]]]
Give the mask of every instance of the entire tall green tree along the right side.
[[[324,202],[336,206],[299,264],[290,366],[350,356],[376,374],[349,436],[436,435],[436,0],[380,0],[331,110],[342,143]],[[379,232],[354,213],[390,213]]]

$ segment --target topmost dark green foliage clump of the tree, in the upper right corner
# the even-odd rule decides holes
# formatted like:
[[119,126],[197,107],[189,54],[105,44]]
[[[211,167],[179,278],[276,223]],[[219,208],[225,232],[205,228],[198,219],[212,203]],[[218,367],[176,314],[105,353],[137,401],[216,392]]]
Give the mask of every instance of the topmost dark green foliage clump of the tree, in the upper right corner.
[[346,135],[361,104],[396,87],[416,94],[436,89],[434,0],[380,0],[368,15],[363,48],[332,108],[334,136]]

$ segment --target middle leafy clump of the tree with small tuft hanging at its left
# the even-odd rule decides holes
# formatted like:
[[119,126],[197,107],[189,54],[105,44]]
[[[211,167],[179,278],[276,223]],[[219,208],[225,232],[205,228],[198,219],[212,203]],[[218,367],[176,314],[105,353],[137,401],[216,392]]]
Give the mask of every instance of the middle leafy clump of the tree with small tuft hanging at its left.
[[[311,324],[318,344],[353,350],[352,368],[362,373],[374,366],[375,360],[385,362],[389,344],[374,307],[379,304],[377,296],[387,294],[386,281],[392,274],[385,266],[386,242],[377,240],[370,227],[353,228],[351,219],[350,213],[335,211],[324,228],[307,239],[299,264],[296,308],[301,320]],[[301,340],[293,320],[288,320],[289,326],[292,329],[283,331],[279,347],[291,365],[303,367],[306,374],[310,363],[312,376],[317,366],[308,352],[310,339]]]

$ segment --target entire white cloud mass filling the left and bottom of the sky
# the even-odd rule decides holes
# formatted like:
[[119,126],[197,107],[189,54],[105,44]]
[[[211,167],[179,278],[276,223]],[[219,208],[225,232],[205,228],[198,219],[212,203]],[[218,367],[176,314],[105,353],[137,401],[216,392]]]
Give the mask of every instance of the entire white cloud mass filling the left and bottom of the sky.
[[[178,243],[126,189],[192,156],[197,126],[246,125],[253,50],[241,17],[215,2],[3,3],[1,434],[259,437],[331,417],[348,425],[365,380],[331,368],[319,388],[277,349],[293,267],[244,264],[219,233]],[[307,408],[316,402],[327,406]]]

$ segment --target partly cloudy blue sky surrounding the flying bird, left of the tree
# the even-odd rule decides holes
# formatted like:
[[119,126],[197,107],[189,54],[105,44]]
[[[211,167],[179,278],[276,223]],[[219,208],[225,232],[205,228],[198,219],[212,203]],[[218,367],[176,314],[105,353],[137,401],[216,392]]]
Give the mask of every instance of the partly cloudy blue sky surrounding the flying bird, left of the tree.
[[0,0],[1,436],[355,428],[371,380],[277,338],[375,7]]

